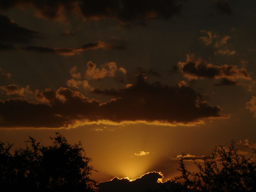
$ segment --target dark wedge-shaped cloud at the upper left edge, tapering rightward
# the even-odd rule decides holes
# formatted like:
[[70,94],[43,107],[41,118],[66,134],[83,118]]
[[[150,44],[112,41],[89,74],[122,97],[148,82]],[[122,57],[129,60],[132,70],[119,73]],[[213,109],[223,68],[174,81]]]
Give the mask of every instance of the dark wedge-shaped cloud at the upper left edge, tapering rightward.
[[[1,4],[2,2],[6,1],[1,1]],[[0,28],[0,50],[14,49],[12,44],[29,43],[34,38],[40,37],[40,34],[38,32],[22,27],[9,19],[7,16],[1,14]]]

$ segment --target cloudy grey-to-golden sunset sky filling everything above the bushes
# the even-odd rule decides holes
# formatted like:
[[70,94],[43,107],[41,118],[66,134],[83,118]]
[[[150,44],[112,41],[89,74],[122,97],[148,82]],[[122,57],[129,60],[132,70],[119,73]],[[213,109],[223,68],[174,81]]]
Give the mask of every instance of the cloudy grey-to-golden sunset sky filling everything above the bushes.
[[[256,146],[256,2],[0,2],[0,140],[81,141],[95,181]],[[156,172],[154,172],[156,171]],[[159,173],[161,172],[161,174]],[[160,176],[159,176],[160,175]]]

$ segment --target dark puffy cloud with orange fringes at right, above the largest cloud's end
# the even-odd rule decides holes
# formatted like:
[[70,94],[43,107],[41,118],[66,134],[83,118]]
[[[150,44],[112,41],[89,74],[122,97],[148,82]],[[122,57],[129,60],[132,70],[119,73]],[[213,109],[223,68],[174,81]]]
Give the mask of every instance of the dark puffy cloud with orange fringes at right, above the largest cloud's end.
[[236,79],[252,80],[245,68],[239,69],[237,65],[228,64],[213,65],[201,58],[195,59],[194,55],[187,55],[186,62],[179,62],[178,65],[183,75],[191,80],[198,78],[226,78],[231,81]]

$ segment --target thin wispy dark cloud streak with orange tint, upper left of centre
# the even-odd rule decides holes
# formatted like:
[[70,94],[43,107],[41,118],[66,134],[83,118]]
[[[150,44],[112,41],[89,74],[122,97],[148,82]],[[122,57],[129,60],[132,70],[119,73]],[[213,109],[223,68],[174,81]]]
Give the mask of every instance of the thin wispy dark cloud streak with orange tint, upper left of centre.
[[44,47],[44,46],[26,46],[22,48],[25,51],[35,51],[38,53],[55,53],[58,55],[76,55],[83,51],[93,50],[93,49],[106,49],[106,50],[112,50],[112,49],[126,49],[123,45],[116,45],[111,44],[107,42],[98,41],[96,43],[88,43],[84,44],[81,47],[78,48],[50,48],[50,47]]

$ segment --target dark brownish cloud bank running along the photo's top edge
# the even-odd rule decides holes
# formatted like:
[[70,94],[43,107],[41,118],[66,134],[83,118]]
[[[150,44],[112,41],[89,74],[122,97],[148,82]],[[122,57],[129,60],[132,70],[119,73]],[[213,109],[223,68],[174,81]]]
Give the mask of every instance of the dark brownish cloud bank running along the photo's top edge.
[[63,19],[63,14],[78,12],[85,19],[118,19],[123,23],[144,23],[146,19],[168,19],[180,14],[182,1],[178,0],[9,0],[1,1],[0,8],[31,7],[38,17]]

